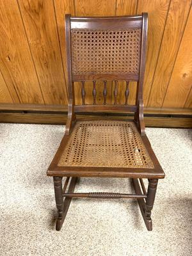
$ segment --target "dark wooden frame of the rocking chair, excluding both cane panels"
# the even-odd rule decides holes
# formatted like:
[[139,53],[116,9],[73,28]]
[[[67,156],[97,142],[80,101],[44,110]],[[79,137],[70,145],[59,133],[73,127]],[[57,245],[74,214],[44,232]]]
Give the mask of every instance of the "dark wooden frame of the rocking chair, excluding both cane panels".
[[[141,214],[148,230],[152,230],[151,211],[154,205],[156,196],[158,179],[164,178],[164,172],[159,164],[156,155],[154,154],[150,142],[145,134],[145,124],[143,120],[143,80],[145,71],[145,54],[147,44],[147,13],[137,16],[123,17],[71,17],[65,15],[66,29],[66,44],[67,44],[67,68],[68,68],[68,118],[65,129],[65,135],[61,141],[60,147],[52,160],[51,165],[47,170],[47,175],[52,176],[54,180],[54,193],[56,207],[58,209],[58,218],[56,221],[56,230],[60,230],[63,221],[68,212],[72,198],[134,198],[138,200]],[[131,74],[109,74],[101,76],[99,74],[92,75],[74,75],[72,74],[72,52],[71,52],[71,29],[72,28],[141,28],[141,49],[140,49],[140,71],[138,75]],[[84,103],[85,90],[84,81],[93,81],[93,105]],[[104,104],[97,105],[95,83],[97,80],[104,81]],[[115,103],[112,105],[106,104],[106,83],[107,81],[115,81]],[[74,97],[74,82],[81,81],[82,105],[75,104]],[[127,81],[125,90],[125,104],[116,104],[117,81]],[[128,105],[127,98],[129,95],[129,81],[137,81],[136,105]],[[83,167],[83,166],[58,166],[60,157],[65,150],[65,145],[70,138],[70,133],[76,125],[76,113],[91,112],[91,111],[125,111],[134,112],[134,123],[140,132],[141,140],[143,141],[147,152],[152,159],[154,169],[147,168],[108,168],[108,167]],[[119,119],[118,119],[119,120]],[[91,121],[90,121],[91,122]],[[62,184],[63,177],[66,177]],[[131,178],[134,187],[134,194],[122,193],[74,193],[77,179],[79,177],[122,177]],[[145,189],[143,179],[148,179],[148,189]],[[68,188],[68,189],[67,189]]]

